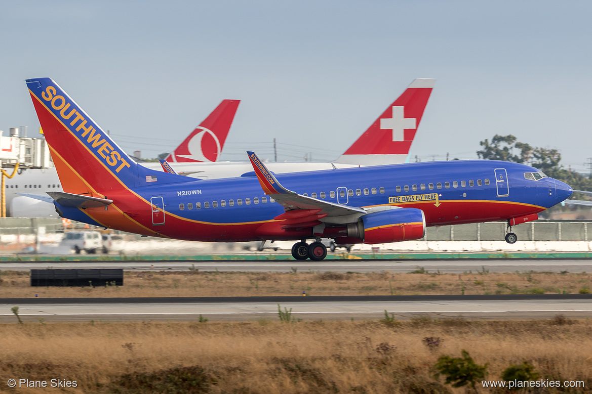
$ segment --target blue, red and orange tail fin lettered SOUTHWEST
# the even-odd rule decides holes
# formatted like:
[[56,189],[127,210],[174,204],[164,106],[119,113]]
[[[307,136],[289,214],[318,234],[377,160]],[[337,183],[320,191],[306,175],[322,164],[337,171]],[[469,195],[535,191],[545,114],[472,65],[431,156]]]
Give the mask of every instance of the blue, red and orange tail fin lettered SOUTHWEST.
[[26,82],[64,192],[101,197],[153,182],[187,182],[134,162],[52,79]]

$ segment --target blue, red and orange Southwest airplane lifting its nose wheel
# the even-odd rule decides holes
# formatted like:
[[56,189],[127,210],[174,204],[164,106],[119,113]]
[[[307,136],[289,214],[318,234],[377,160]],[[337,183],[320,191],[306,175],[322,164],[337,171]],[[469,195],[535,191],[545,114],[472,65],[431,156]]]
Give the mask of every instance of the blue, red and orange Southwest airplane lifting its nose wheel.
[[106,228],[195,241],[296,240],[295,259],[323,260],[323,237],[390,243],[420,239],[435,225],[507,220],[514,243],[512,225],[572,193],[533,167],[494,160],[274,175],[248,152],[254,171],[246,176],[189,179],[128,160],[52,79],[27,86],[64,190],[48,193],[56,211]]

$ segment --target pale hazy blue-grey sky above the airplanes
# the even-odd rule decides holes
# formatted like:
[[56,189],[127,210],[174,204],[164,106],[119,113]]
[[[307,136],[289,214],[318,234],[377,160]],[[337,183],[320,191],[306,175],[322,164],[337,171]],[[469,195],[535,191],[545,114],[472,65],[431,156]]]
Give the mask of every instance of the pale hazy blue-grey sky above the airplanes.
[[0,8],[0,130],[38,120],[52,77],[128,153],[170,151],[242,100],[224,160],[336,159],[417,77],[436,78],[411,160],[475,159],[514,134],[592,157],[592,2],[12,1]]

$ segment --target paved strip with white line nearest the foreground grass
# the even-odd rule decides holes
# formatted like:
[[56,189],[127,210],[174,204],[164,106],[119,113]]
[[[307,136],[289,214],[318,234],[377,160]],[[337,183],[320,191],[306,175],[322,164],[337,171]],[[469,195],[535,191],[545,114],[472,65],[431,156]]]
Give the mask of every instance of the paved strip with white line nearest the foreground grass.
[[291,309],[303,320],[397,319],[420,316],[466,319],[551,319],[592,316],[592,295],[333,296],[135,299],[0,299],[0,322],[15,322],[19,306],[25,322],[278,320]]

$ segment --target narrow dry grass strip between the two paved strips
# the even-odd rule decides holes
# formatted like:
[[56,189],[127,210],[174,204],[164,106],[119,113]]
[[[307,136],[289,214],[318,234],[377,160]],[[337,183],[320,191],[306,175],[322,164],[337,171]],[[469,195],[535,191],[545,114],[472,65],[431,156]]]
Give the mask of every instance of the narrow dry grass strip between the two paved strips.
[[591,291],[592,274],[134,272],[117,288],[31,288],[29,283],[28,273],[2,272],[0,298],[578,293]]

